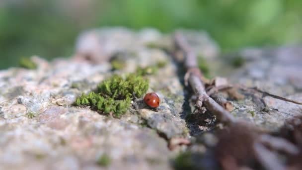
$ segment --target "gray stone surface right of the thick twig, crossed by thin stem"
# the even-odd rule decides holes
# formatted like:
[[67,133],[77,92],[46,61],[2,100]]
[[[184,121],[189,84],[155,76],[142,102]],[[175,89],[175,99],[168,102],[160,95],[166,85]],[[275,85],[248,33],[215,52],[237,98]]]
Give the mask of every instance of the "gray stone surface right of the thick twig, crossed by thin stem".
[[[302,48],[247,49],[241,51],[246,63],[230,74],[234,83],[258,87],[272,94],[302,101]],[[270,96],[246,93],[242,101],[233,101],[234,115],[268,130],[278,130],[285,120],[302,115],[302,106]],[[263,100],[261,100],[263,99]]]

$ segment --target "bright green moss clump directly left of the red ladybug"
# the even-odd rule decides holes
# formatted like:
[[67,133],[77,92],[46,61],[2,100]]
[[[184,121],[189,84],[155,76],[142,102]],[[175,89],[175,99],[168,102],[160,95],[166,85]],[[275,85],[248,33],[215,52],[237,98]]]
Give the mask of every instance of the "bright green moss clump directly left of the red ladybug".
[[91,109],[119,117],[130,107],[131,99],[141,97],[148,88],[148,81],[141,76],[130,74],[123,79],[114,75],[100,83],[96,91],[78,97],[75,105],[90,106]]

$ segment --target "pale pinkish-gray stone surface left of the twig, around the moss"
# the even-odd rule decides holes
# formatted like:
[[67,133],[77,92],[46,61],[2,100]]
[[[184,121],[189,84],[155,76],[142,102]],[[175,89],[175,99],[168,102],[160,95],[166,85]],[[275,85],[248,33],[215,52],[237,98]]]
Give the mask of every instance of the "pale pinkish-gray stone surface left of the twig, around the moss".
[[[32,57],[37,70],[0,72],[1,169],[96,169],[104,153],[112,160],[112,170],[170,169],[165,138],[188,137],[189,133],[180,117],[184,89],[177,66],[164,51],[146,47],[161,38],[160,33],[117,28],[100,30],[97,35],[106,44],[103,54],[118,52],[125,58],[123,70],[111,72],[108,62],[77,57],[52,62]],[[148,109],[142,99],[137,101],[139,108],[131,108],[120,119],[72,106],[76,96],[105,78],[158,61],[168,63],[148,77],[149,91],[161,98],[158,111]]]

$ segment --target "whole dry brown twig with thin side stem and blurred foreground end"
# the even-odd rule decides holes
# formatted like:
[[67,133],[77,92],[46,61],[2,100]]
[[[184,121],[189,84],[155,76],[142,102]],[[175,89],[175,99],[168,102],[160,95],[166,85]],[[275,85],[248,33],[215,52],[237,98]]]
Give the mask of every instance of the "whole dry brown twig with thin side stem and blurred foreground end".
[[[175,44],[185,56],[185,84],[190,85],[195,93],[195,106],[197,109],[201,110],[202,106],[204,106],[207,110],[216,115],[218,120],[229,124],[229,129],[219,135],[219,143],[216,146],[216,156],[223,169],[246,167],[257,160],[257,162],[265,169],[285,170],[288,168],[286,167],[287,165],[279,161],[279,158],[274,151],[282,151],[295,157],[297,155],[299,156],[299,154],[301,155],[301,149],[286,139],[270,136],[268,133],[245,121],[235,121],[233,116],[221,106],[224,105],[226,101],[222,100],[220,105],[217,102],[218,98],[222,99],[222,97],[217,97],[216,100],[214,100],[210,96],[215,98],[216,93],[219,90],[230,90],[235,87],[252,93],[260,92],[264,95],[296,104],[302,104],[302,102],[270,94],[258,88],[247,88],[243,85],[222,85],[222,88],[215,86],[213,88],[209,87],[208,89],[205,89],[206,82],[204,81],[205,79],[202,72],[197,67],[196,54],[190,48],[185,38],[179,33],[175,34]],[[300,162],[297,165],[294,163],[291,166],[296,168],[300,166]]]

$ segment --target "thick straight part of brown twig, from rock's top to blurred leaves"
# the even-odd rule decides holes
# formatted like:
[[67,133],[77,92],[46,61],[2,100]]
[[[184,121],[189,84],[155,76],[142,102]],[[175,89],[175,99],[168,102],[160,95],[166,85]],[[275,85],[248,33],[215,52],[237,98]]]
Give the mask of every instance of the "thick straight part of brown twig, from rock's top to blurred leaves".
[[196,107],[201,109],[202,106],[205,106],[206,109],[216,115],[221,122],[226,124],[234,123],[234,117],[207,94],[202,81],[204,76],[197,67],[197,56],[190,48],[184,36],[180,33],[176,33],[174,38],[175,45],[184,53],[185,56],[184,65],[187,70],[185,83],[191,86],[197,97],[195,103]]

